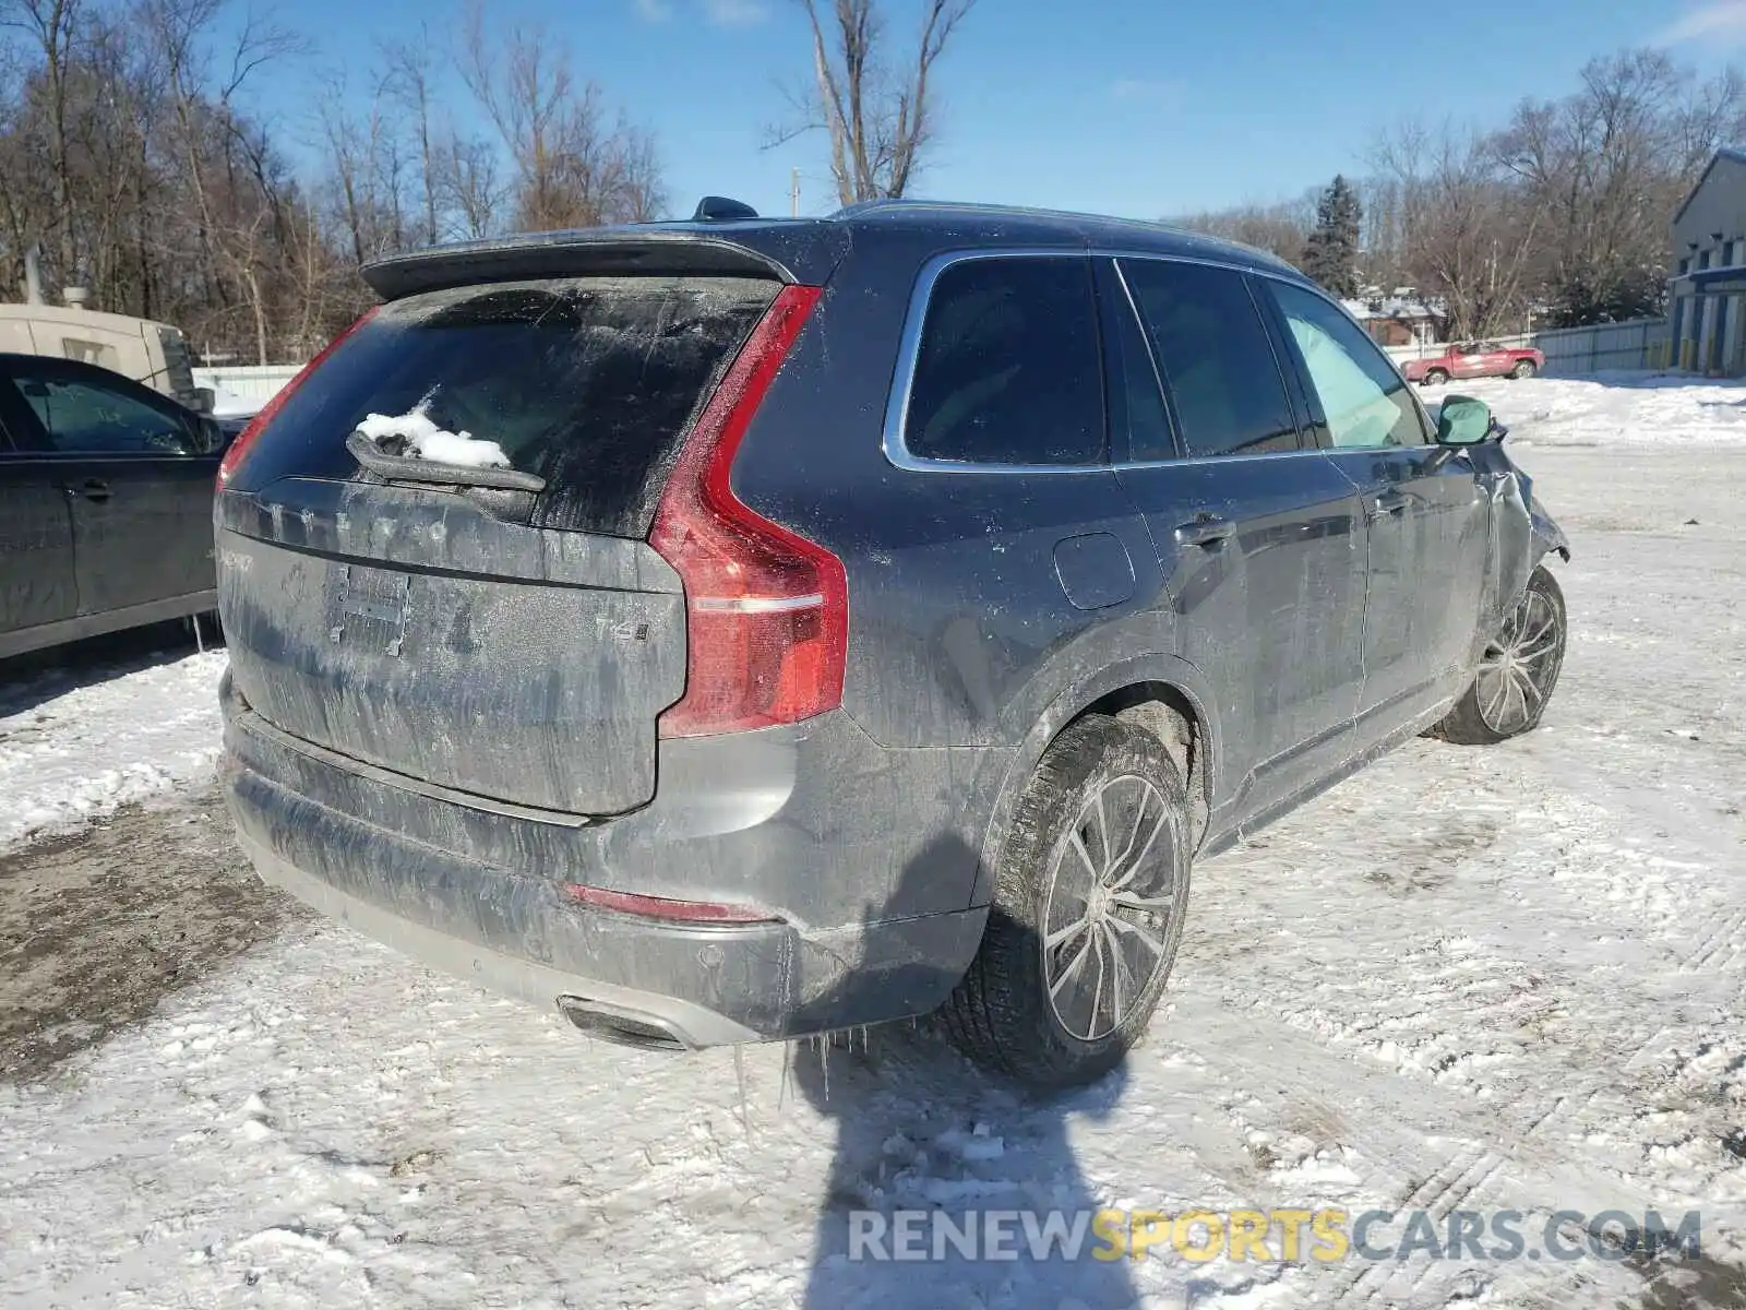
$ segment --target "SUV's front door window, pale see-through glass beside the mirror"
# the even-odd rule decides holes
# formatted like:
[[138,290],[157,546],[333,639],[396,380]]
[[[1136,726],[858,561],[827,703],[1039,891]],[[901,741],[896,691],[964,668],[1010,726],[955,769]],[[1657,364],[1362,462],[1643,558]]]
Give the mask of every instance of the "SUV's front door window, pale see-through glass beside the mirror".
[[1271,283],[1336,447],[1423,445],[1406,381],[1376,344],[1313,292]]

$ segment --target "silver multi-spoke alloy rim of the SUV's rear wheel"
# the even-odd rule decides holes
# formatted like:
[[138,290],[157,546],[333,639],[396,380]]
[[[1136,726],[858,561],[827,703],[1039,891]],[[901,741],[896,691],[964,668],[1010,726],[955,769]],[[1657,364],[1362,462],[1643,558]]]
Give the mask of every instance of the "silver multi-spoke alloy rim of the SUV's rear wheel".
[[1086,800],[1049,872],[1042,975],[1062,1027],[1096,1041],[1170,959],[1175,852],[1163,793],[1137,774]]

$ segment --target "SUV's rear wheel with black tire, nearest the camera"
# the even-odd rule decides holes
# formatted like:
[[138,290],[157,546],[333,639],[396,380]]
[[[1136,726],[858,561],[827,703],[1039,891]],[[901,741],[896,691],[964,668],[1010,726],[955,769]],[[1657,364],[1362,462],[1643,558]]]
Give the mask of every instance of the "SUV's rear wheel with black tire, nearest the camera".
[[[1119,835],[1126,819],[1109,817],[1124,800],[1137,807],[1128,837]],[[1142,831],[1145,845],[1135,851]],[[1018,800],[995,865],[981,948],[941,1011],[957,1046],[1035,1088],[1076,1086],[1114,1069],[1145,1032],[1175,962],[1189,894],[1189,831],[1182,774],[1158,737],[1105,714],[1086,714],[1062,730]],[[1069,929],[1076,915],[1088,927],[1046,950],[1046,938]],[[1117,917],[1121,924],[1110,922]],[[1083,954],[1070,955],[1076,948]],[[1138,985],[1135,961],[1151,966]],[[1110,990],[1103,990],[1105,964]],[[1060,1003],[1051,999],[1051,973]],[[1072,999],[1083,1001],[1088,985],[1093,994],[1081,1011]],[[1062,1010],[1086,1022],[1069,1027]]]

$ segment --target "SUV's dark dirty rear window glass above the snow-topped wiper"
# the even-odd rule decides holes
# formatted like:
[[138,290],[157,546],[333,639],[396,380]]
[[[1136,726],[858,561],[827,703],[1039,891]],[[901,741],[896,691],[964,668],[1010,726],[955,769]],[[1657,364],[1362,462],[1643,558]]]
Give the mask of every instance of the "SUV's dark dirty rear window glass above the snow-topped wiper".
[[395,300],[286,400],[234,486],[356,479],[346,437],[421,410],[546,480],[534,522],[644,536],[681,437],[775,283],[573,278]]

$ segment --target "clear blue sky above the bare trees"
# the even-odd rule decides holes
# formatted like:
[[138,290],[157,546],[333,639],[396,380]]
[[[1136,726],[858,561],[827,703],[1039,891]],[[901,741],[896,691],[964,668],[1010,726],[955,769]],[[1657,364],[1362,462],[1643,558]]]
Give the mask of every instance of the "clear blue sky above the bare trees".
[[[913,0],[887,7],[892,37],[906,37]],[[300,0],[258,12],[309,35],[311,61],[332,68],[421,23],[440,31],[456,10]],[[505,28],[543,23],[578,75],[653,128],[676,211],[719,192],[786,213],[791,168],[803,213],[835,208],[821,136],[761,148],[791,117],[784,86],[810,68],[793,0],[487,0],[487,12]],[[1746,0],[980,0],[939,65],[939,143],[913,190],[1138,218],[1280,199],[1365,171],[1392,121],[1495,124],[1636,44],[1701,68],[1746,58]],[[262,108],[307,112],[309,86],[306,68],[281,68],[258,87]]]

